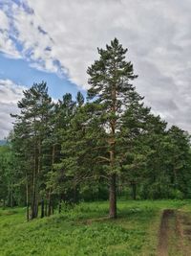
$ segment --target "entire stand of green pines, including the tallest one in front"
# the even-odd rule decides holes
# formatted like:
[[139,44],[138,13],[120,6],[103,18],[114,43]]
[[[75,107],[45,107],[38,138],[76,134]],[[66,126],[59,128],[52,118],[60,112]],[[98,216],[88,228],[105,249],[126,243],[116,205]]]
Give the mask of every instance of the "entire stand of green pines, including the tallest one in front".
[[46,82],[18,102],[9,144],[0,148],[0,199],[26,205],[27,219],[79,200],[117,196],[191,198],[190,136],[143,105],[133,64],[115,38],[87,70],[87,99],[78,92],[53,103]]

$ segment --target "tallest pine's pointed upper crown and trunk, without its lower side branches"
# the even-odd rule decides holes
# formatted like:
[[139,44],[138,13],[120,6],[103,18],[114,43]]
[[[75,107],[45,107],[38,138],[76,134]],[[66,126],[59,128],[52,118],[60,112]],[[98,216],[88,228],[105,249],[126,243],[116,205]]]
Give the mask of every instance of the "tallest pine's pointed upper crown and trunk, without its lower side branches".
[[106,130],[107,154],[109,164],[110,218],[117,218],[117,136],[121,126],[124,110],[134,101],[141,100],[131,81],[138,76],[134,74],[133,64],[125,60],[127,49],[123,49],[117,38],[106,45],[106,50],[98,49],[99,59],[88,68],[88,99],[95,99],[96,116],[100,126]]

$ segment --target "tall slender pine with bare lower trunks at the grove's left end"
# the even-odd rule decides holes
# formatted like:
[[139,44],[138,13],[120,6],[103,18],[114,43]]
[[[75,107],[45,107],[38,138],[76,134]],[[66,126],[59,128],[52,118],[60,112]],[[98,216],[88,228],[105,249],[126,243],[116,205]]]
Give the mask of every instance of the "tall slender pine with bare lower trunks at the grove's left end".
[[38,215],[39,192],[45,182],[42,166],[43,142],[50,135],[48,122],[53,105],[46,82],[34,83],[23,93],[24,98],[18,102],[20,114],[12,115],[15,118],[13,140],[16,153],[21,157],[20,160],[24,163],[23,169],[26,170],[27,201],[29,202],[31,194],[33,219]]

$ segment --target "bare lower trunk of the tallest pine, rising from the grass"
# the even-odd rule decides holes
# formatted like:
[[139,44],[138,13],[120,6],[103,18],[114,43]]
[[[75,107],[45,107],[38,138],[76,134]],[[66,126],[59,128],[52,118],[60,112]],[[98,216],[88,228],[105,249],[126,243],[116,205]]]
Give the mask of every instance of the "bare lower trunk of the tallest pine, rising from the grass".
[[117,218],[117,185],[116,185],[116,175],[110,176],[110,213],[109,217],[111,219]]

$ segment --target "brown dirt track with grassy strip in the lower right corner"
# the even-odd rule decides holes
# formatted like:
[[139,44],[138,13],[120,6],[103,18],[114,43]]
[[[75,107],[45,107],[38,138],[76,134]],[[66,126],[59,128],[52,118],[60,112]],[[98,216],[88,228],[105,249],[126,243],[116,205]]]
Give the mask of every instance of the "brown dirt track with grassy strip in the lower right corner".
[[159,227],[158,256],[191,256],[191,220],[186,213],[166,209]]

